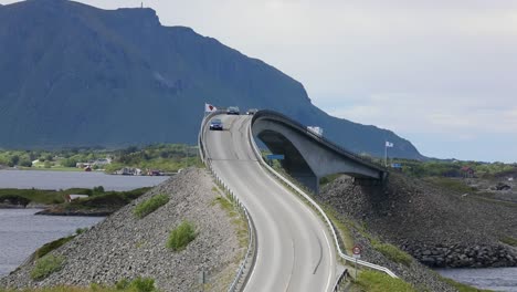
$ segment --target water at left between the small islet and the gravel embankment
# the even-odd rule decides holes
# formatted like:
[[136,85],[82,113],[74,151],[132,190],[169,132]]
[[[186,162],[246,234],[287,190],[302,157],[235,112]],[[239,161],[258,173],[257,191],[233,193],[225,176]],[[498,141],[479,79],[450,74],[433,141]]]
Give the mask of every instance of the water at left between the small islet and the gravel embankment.
[[0,209],[0,275],[20,265],[44,243],[73,234],[104,218],[35,216],[38,209]]

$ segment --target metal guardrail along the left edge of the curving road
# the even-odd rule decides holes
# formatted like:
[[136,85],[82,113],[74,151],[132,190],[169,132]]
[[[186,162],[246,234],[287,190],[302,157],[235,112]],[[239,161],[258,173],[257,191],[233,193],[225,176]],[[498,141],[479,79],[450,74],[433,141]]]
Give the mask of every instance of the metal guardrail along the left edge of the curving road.
[[[215,179],[217,184],[222,187],[229,197],[230,201],[236,206],[241,212],[244,215],[246,218],[246,223],[247,223],[247,230],[249,230],[249,243],[247,243],[247,249],[246,253],[244,255],[244,259],[242,260],[241,264],[239,265],[238,272],[235,274],[235,278],[233,279],[232,283],[230,284],[228,292],[234,292],[239,290],[243,290],[245,283],[247,282],[250,271],[253,269],[253,265],[255,264],[256,260],[256,230],[255,230],[255,225],[253,223],[253,219],[251,218],[250,213],[247,212],[246,207],[239,200],[239,198],[233,194],[233,191],[230,189],[230,187],[224,184],[224,181],[218,176],[218,174],[213,170],[211,159],[207,157],[205,154],[205,148],[204,148],[204,127],[207,124],[207,121],[209,121],[211,117],[219,115],[223,113],[223,111],[215,111],[213,113],[210,113],[207,115],[202,123],[201,123],[201,129],[199,132],[198,136],[198,144],[199,144],[199,152],[200,152],[200,157],[201,160],[204,163],[207,168],[210,170],[212,174],[213,178]],[[250,267],[247,271],[245,271],[246,267]],[[246,273],[247,272],[247,273]],[[243,280],[244,279],[244,280]],[[241,280],[242,283],[241,283]],[[241,284],[241,285],[239,285]]]

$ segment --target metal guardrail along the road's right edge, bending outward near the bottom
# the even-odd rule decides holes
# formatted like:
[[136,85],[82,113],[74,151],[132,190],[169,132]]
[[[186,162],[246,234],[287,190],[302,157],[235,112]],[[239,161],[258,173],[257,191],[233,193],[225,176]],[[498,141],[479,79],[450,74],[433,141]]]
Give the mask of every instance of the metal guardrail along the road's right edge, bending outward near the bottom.
[[[253,122],[253,121],[252,121]],[[253,133],[252,133],[252,129],[251,129],[251,126],[252,126],[252,123],[249,124],[247,126],[247,131],[249,131],[249,138],[250,138],[250,144],[253,148],[253,152],[255,153],[255,156],[258,160],[258,163],[267,170],[270,170],[274,176],[276,176],[279,180],[282,180],[284,184],[286,184],[287,186],[289,186],[292,189],[294,189],[296,192],[298,192],[304,199],[306,199],[308,202],[310,202],[310,205],[323,216],[325,222],[327,223],[328,226],[328,229],[330,230],[330,232],[333,233],[333,238],[334,238],[334,243],[336,246],[336,249],[338,251],[338,254],[339,257],[341,257],[342,259],[347,260],[347,261],[350,261],[350,262],[356,262],[356,259],[354,257],[350,257],[350,255],[347,255],[345,252],[341,251],[341,247],[339,244],[339,241],[338,241],[338,237],[337,237],[337,233],[336,233],[336,230],[330,221],[330,219],[328,219],[328,216],[325,213],[325,211],[321,209],[321,207],[319,207],[319,205],[313,200],[313,198],[310,198],[307,194],[305,194],[305,191],[303,191],[300,188],[298,188],[296,185],[294,185],[293,182],[291,182],[288,179],[286,179],[285,177],[283,177],[281,174],[278,174],[275,169],[273,169],[271,166],[268,166],[264,159],[262,158],[262,154],[261,152],[258,150],[258,147],[256,146],[255,144],[255,140],[253,138]],[[362,267],[367,267],[367,268],[370,268],[370,269],[373,269],[373,270],[378,270],[378,271],[382,271],[387,274],[389,274],[390,277],[392,278],[398,278],[391,270],[389,270],[388,268],[386,267],[381,267],[381,265],[378,265],[378,264],[374,264],[374,263],[370,263],[370,262],[367,262],[367,261],[361,261],[361,260],[357,260],[357,263],[359,265],[362,265]]]

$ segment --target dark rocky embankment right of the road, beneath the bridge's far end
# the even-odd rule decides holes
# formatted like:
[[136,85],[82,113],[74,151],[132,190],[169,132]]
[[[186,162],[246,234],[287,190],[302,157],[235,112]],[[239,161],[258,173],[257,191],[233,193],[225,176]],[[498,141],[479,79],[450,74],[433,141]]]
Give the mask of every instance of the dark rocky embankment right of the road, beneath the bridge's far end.
[[340,177],[319,199],[429,267],[516,267],[517,205],[391,174],[386,186]]

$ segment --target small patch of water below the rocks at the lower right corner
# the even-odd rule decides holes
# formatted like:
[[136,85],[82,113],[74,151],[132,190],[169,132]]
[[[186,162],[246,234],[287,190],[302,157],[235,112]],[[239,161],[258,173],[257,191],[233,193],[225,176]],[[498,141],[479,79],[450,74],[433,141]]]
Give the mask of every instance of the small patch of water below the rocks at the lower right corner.
[[481,289],[517,292],[517,268],[440,269],[436,272]]

